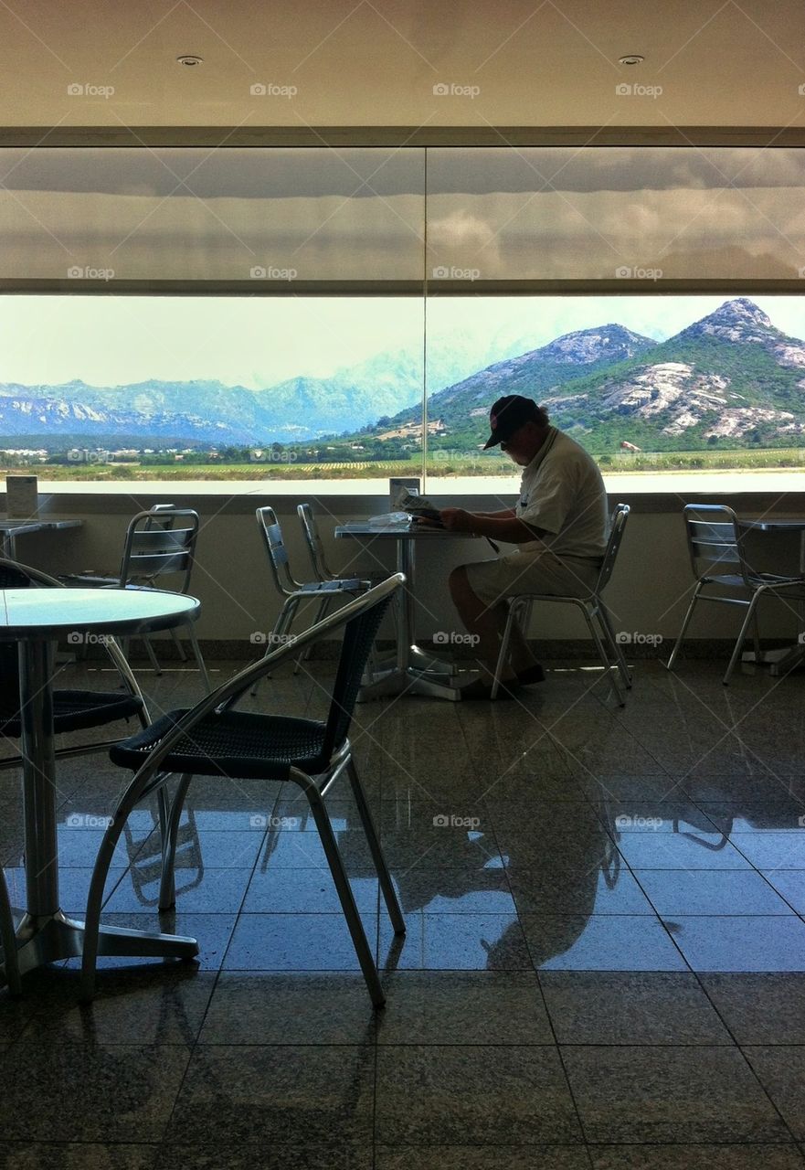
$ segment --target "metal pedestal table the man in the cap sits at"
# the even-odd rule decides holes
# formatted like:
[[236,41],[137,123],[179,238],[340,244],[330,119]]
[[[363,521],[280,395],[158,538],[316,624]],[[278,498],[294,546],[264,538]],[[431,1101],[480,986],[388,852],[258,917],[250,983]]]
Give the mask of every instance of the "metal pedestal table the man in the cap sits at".
[[[397,571],[405,573],[405,586],[400,591],[397,614],[397,658],[381,668],[371,682],[360,688],[360,701],[379,698],[383,695],[429,695],[433,698],[461,700],[461,687],[456,686],[459,663],[449,659],[435,658],[417,646],[415,603],[415,556],[418,543],[434,541],[468,539],[469,532],[450,532],[443,528],[432,528],[411,521],[408,524],[378,523],[371,519],[356,521],[336,528],[340,539],[395,541]],[[419,603],[422,604],[421,601]],[[465,680],[466,681],[466,680]]]

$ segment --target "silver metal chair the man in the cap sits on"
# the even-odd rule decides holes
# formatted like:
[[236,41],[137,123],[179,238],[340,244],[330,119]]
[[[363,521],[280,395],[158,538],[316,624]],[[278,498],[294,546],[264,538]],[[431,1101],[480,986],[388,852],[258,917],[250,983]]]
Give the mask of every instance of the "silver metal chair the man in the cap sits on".
[[[598,580],[586,596],[559,597],[552,593],[521,593],[517,597],[509,598],[509,613],[505,619],[505,629],[503,632],[503,640],[501,641],[501,649],[495,666],[495,679],[491,686],[493,698],[497,696],[497,690],[501,684],[501,676],[509,654],[509,639],[511,638],[511,627],[514,622],[520,621],[521,628],[527,629],[535,601],[560,601],[565,605],[574,605],[584,614],[584,620],[587,624],[596,649],[598,651],[598,658],[600,659],[601,666],[606,670],[612,694],[617,698],[620,707],[626,706],[626,691],[632,686],[632,675],[626,662],[626,656],[624,655],[620,644],[615,638],[615,633],[612,627],[612,619],[610,618],[608,610],[604,604],[601,593],[608,584],[615,567],[618,550],[620,549],[621,541],[624,539],[628,514],[628,504],[615,504],[612,512],[610,539],[607,542],[604,560],[601,562],[601,567],[598,573]],[[598,622],[598,626],[596,626],[596,622]]]

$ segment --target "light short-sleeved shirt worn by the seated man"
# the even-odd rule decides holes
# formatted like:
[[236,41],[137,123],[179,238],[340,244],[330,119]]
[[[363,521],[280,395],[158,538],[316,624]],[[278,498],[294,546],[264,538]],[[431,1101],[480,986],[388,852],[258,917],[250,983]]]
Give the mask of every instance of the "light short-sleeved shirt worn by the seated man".
[[[606,551],[610,521],[601,473],[584,447],[556,427],[523,472],[515,511],[543,529],[543,543],[559,556],[603,557]],[[522,548],[527,551],[529,544]]]

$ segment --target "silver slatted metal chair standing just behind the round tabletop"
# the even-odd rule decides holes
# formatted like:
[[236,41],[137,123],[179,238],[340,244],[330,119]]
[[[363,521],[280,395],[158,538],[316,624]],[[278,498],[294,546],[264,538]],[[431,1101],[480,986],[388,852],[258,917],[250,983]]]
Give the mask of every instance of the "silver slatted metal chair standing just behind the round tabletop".
[[[195,559],[195,543],[199,535],[199,516],[192,508],[173,508],[156,504],[147,511],[137,512],[129,521],[123,558],[117,574],[70,573],[61,578],[66,585],[82,589],[172,589],[174,593],[187,593]],[[178,577],[170,585],[164,577]],[[171,631],[183,661],[186,655],[176,631]],[[187,635],[204,683],[209,690],[209,676],[192,622]],[[157,674],[161,668],[157,661],[150,638],[144,638],[145,651]]]

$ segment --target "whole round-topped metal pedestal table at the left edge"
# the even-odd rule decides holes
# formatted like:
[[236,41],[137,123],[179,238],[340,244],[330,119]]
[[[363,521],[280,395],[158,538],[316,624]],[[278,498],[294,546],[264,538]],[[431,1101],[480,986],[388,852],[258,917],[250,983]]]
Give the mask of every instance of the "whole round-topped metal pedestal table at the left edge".
[[[158,590],[0,590],[0,641],[20,651],[26,914],[20,922],[20,973],[81,955],[83,922],[59,906],[56,784],[53,731],[55,642],[71,632],[137,635],[194,620],[194,597]],[[94,863],[95,858],[88,859]],[[99,955],[192,958],[194,938],[102,927]]]

